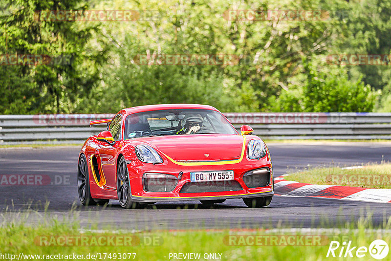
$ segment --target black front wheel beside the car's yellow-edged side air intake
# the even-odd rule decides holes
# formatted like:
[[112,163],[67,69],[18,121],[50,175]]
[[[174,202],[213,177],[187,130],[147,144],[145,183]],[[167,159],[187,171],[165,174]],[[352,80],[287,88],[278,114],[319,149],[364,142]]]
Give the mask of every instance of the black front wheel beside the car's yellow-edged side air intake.
[[125,209],[138,207],[137,202],[131,201],[130,179],[128,166],[123,157],[118,162],[117,166],[117,196],[121,207]]

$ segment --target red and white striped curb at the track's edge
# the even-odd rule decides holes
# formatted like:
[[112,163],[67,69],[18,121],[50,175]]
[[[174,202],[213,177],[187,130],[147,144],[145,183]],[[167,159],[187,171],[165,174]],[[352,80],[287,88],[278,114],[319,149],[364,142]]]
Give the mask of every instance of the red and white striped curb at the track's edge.
[[313,196],[391,203],[391,189],[366,189],[347,186],[307,184],[285,180],[283,176],[274,179],[274,193],[281,196]]

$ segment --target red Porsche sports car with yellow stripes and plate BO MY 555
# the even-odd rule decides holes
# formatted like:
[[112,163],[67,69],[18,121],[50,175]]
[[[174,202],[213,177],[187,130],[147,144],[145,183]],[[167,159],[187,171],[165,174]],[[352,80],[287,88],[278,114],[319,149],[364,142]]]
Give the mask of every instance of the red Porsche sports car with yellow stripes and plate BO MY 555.
[[241,133],[212,106],[168,104],[120,110],[91,136],[79,155],[78,192],[84,205],[118,199],[124,208],[162,201],[203,204],[242,198],[269,205],[270,153],[253,129]]

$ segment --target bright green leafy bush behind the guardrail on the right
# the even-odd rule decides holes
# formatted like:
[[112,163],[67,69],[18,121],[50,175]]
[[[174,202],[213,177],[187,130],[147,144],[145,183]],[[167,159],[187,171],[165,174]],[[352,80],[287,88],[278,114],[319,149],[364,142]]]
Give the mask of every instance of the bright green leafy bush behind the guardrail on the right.
[[361,80],[348,79],[346,68],[314,65],[304,60],[305,79],[289,85],[271,104],[274,111],[366,112],[372,111],[376,93]]

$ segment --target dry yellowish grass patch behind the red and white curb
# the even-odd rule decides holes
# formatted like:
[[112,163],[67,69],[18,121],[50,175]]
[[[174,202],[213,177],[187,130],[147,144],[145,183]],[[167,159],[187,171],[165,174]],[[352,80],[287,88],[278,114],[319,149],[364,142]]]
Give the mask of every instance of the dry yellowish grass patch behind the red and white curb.
[[366,165],[360,169],[312,168],[285,176],[286,180],[310,184],[391,189],[391,164]]

